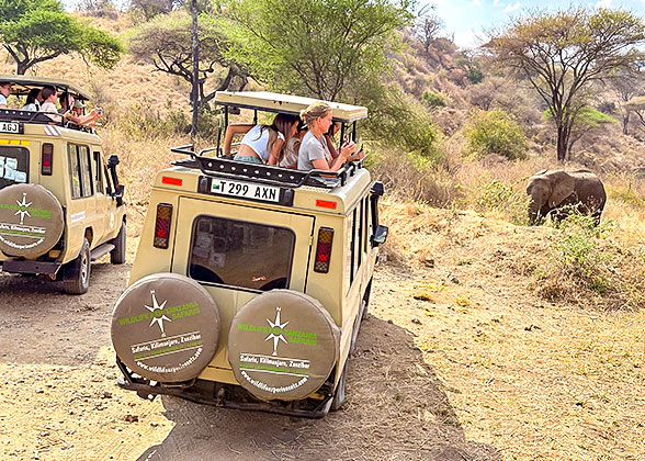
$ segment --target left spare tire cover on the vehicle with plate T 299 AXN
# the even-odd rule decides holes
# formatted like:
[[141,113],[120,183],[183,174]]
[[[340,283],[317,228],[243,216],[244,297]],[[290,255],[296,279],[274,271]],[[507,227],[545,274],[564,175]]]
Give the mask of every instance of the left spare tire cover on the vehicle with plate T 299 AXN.
[[133,283],[112,313],[112,344],[131,370],[149,380],[197,376],[219,344],[219,313],[208,292],[177,273]]

